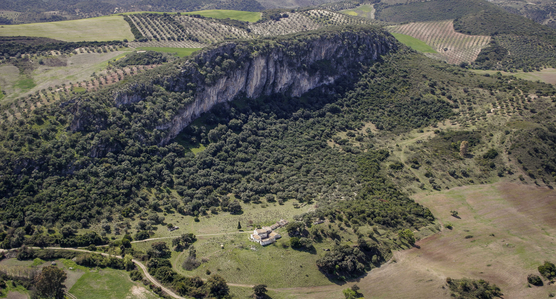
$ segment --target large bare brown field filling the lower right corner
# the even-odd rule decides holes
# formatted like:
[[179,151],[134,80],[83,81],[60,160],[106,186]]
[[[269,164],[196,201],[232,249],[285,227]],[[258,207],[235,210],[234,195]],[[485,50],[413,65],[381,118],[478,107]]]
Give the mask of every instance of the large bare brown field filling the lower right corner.
[[[453,229],[396,251],[386,265],[343,286],[276,291],[287,298],[340,298],[343,288],[357,283],[371,298],[450,298],[446,277],[469,277],[495,283],[504,299],[548,298],[556,292],[548,281],[544,286],[527,283],[527,275],[538,275],[543,261],[554,262],[556,191],[502,182],[426,192],[414,199]],[[450,210],[457,210],[459,218]],[[473,237],[465,239],[468,235]]]

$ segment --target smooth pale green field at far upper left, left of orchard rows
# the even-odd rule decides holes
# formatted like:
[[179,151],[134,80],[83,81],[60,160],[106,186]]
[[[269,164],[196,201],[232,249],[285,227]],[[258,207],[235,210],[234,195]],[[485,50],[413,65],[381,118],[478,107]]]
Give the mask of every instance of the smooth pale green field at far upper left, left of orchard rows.
[[[116,29],[116,30],[115,30]],[[5,25],[0,36],[48,37],[64,42],[83,40],[132,40],[130,25],[121,16],[97,17],[71,21]]]

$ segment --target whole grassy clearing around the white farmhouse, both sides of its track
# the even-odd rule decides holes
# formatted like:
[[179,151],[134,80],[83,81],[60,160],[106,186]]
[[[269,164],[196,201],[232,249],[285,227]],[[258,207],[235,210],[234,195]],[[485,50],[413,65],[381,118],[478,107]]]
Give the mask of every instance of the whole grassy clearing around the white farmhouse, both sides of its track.
[[[292,215],[301,214],[314,208],[314,205],[304,205],[296,209],[292,205],[293,202],[296,201],[286,201],[284,205],[244,204],[241,202],[244,212],[239,215],[219,212],[214,215],[209,214],[208,217],[200,217],[198,222],[193,221],[191,216],[167,214],[165,222],[178,225],[180,229],[168,232],[165,226],[159,226],[151,237],[165,239],[135,242],[133,248],[145,251],[153,242],[159,241],[164,241],[168,247],[172,247],[172,239],[167,237],[192,232],[197,235],[197,242],[193,245],[197,251],[197,257],[205,258],[207,261],[195,270],[186,271],[181,265],[187,257],[187,250],[184,252],[172,251],[173,268],[182,275],[198,275],[207,278],[209,276],[207,270],[209,270],[211,273],[219,273],[229,283],[241,285],[266,283],[272,288],[315,287],[336,283],[324,276],[315,266],[316,260],[325,254],[324,249],[334,246],[334,242],[330,239],[315,241],[314,250],[296,250],[289,247],[290,237],[282,228],[277,230],[282,238],[275,244],[260,246],[249,241],[249,234],[253,229],[252,226],[249,226],[249,220],[252,220],[255,225],[270,225],[281,218],[291,221]],[[243,232],[237,229],[238,221]],[[329,221],[319,224],[318,227],[327,228],[329,225],[339,231],[342,242],[349,245],[354,244],[357,237],[349,227],[340,228],[335,222]],[[368,234],[370,230],[370,226],[359,228],[363,234]],[[423,229],[423,233],[425,232],[432,233],[428,229]],[[379,233],[380,235],[377,237],[388,244],[396,248],[407,248],[399,240],[389,239],[394,236],[393,232],[379,230]],[[224,249],[221,249],[221,245],[224,245]]]

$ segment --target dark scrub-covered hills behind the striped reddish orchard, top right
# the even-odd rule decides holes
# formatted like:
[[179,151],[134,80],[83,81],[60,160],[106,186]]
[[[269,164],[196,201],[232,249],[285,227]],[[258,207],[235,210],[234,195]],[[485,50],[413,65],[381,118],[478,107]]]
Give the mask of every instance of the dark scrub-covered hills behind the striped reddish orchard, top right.
[[374,4],[374,7],[375,18],[380,21],[405,24],[451,19],[456,32],[492,37],[489,46],[483,48],[471,63],[473,68],[512,72],[556,65],[556,30],[493,3],[483,0],[386,1]]

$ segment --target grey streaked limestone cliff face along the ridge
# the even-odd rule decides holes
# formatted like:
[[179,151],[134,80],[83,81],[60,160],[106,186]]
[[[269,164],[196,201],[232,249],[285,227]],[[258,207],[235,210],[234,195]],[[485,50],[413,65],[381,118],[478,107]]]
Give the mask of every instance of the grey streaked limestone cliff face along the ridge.
[[[166,131],[166,144],[192,120],[215,104],[238,96],[257,98],[281,93],[301,94],[353,73],[360,65],[395,50],[394,39],[376,28],[277,37],[252,42],[227,42],[207,49],[180,65],[180,73],[158,82],[172,92],[193,89],[185,108],[156,129]],[[193,85],[194,84],[194,85]],[[144,99],[142,88],[126,88],[113,96],[116,106]]]

